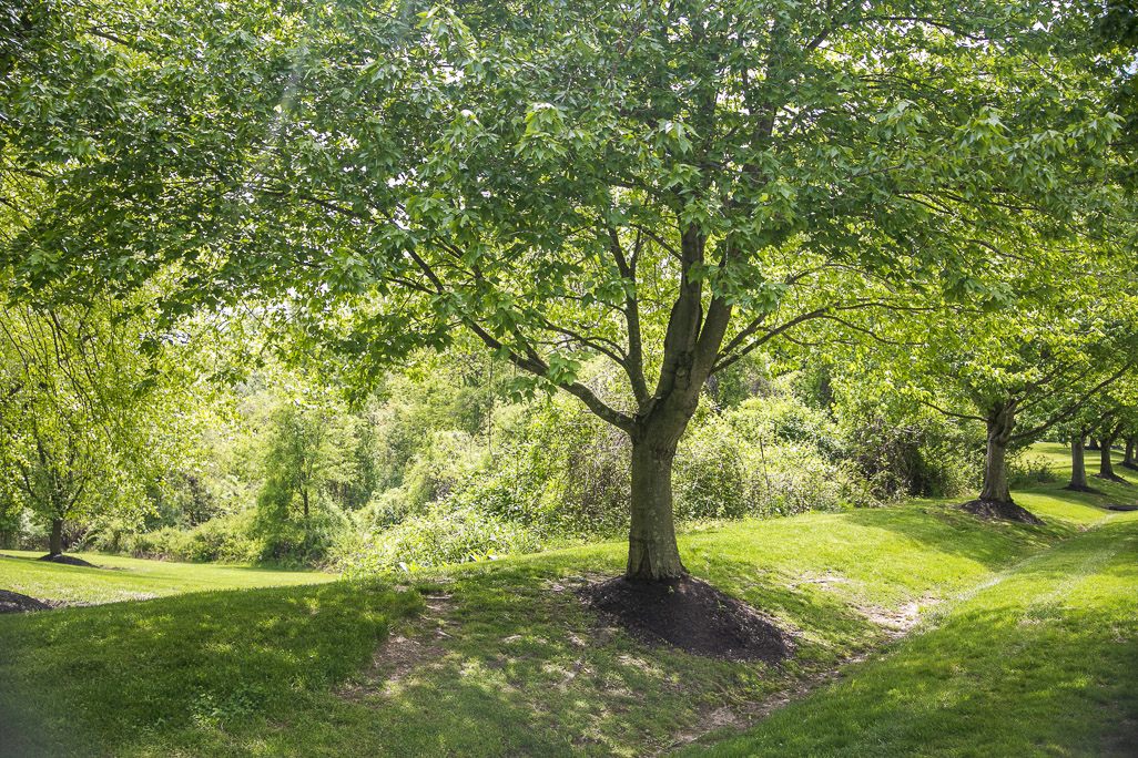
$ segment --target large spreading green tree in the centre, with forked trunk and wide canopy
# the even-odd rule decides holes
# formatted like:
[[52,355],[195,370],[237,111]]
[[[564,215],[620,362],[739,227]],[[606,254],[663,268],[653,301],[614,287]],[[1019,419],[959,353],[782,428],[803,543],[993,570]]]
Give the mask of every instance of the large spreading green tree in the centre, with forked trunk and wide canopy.
[[[630,440],[630,578],[684,573],[671,465],[714,374],[1007,305],[1006,267],[1046,286],[1119,234],[1127,59],[1081,43],[1089,6],[140,6],[42,7],[6,75],[0,160],[52,199],[0,252],[25,292],[256,298],[360,385],[472,335]],[[626,392],[579,380],[599,356]]]

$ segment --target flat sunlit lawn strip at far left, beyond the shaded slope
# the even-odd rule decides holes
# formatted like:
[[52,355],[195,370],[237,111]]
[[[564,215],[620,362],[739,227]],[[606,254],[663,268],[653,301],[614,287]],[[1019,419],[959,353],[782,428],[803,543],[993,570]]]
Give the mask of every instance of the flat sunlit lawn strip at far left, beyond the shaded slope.
[[[74,553],[100,568],[35,560],[43,551],[0,550],[0,589],[68,602],[143,600],[204,590],[331,582],[333,574],[221,564],[181,564]],[[72,553],[69,553],[72,555]]]

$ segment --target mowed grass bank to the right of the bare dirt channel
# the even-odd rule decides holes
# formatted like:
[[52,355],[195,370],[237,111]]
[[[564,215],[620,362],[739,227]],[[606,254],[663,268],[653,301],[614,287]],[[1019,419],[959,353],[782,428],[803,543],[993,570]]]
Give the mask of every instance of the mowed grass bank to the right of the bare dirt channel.
[[1138,755],[1138,514],[1029,558],[711,756]]

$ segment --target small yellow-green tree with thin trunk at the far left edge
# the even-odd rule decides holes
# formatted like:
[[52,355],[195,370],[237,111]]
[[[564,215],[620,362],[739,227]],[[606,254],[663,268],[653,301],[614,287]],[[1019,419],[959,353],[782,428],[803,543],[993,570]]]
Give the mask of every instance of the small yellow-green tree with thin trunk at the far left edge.
[[63,552],[65,520],[140,517],[146,486],[184,444],[167,405],[180,393],[156,381],[140,352],[143,333],[107,303],[0,310],[0,464],[19,501],[49,525],[50,555]]

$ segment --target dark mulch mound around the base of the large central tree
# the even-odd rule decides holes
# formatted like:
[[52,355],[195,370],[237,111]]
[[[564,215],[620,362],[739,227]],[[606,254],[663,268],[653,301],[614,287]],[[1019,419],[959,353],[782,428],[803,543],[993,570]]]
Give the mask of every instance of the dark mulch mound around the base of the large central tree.
[[630,582],[621,576],[589,584],[580,597],[642,642],[665,642],[684,652],[726,660],[776,663],[791,653],[777,626],[692,576],[667,582]]

